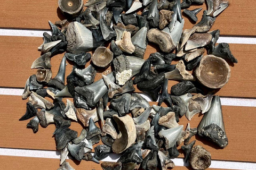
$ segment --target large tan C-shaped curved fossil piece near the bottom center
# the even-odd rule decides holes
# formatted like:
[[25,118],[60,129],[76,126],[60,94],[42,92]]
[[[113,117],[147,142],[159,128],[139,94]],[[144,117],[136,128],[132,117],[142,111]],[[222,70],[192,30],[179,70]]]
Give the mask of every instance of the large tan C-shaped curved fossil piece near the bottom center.
[[122,134],[118,134],[117,139],[112,145],[112,150],[116,154],[120,154],[127,148],[129,148],[132,143],[136,140],[136,128],[133,119],[129,115],[119,117],[118,115],[113,115],[115,122],[117,123],[118,130]]

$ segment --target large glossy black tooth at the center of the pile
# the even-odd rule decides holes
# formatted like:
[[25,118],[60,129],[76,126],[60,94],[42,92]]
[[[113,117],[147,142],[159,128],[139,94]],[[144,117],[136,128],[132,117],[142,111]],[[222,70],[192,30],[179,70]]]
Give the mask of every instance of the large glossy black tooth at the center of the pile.
[[160,73],[156,75],[156,77],[153,79],[140,81],[137,84],[137,88],[140,91],[147,92],[147,94],[150,95],[152,100],[156,101],[158,99],[159,92],[163,87],[164,80],[165,80],[164,73]]

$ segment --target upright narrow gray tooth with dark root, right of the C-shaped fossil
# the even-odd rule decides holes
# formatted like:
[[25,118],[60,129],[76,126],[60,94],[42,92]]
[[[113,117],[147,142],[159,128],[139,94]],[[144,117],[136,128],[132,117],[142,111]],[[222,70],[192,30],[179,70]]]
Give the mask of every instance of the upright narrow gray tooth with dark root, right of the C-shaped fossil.
[[158,146],[155,139],[154,125],[149,128],[146,134],[146,138],[143,143],[143,148],[158,151]]

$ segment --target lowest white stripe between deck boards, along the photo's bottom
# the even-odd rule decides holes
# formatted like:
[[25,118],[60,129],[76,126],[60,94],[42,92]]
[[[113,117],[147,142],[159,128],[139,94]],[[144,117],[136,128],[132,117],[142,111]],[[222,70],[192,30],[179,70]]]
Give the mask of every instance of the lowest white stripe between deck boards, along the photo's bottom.
[[[47,150],[0,148],[0,155],[60,159],[60,152],[47,151]],[[120,157],[120,155],[118,155],[118,154],[110,154],[107,158],[102,159],[102,161],[117,162],[119,157]],[[68,159],[70,159],[70,158],[68,158]],[[182,159],[182,158],[175,158],[172,160],[173,160],[175,166],[189,166],[189,164],[185,163],[184,159]],[[256,163],[212,160],[212,164],[211,164],[210,168],[256,170]]]

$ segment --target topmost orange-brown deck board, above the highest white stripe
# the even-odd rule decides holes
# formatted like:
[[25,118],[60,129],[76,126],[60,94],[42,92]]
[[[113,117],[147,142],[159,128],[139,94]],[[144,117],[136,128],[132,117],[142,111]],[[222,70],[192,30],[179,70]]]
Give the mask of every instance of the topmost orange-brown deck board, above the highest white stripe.
[[[256,2],[245,3],[239,0],[229,0],[229,2],[229,7],[217,17],[212,30],[220,29],[221,35],[256,36],[254,27]],[[198,7],[206,10],[206,4],[191,6],[189,10]],[[203,10],[197,14],[198,22],[202,18]],[[195,23],[190,23],[185,15],[183,18],[185,18],[185,29],[193,27]],[[3,28],[50,29],[49,20],[54,23],[63,19],[58,1],[11,0],[0,4],[0,27]]]

